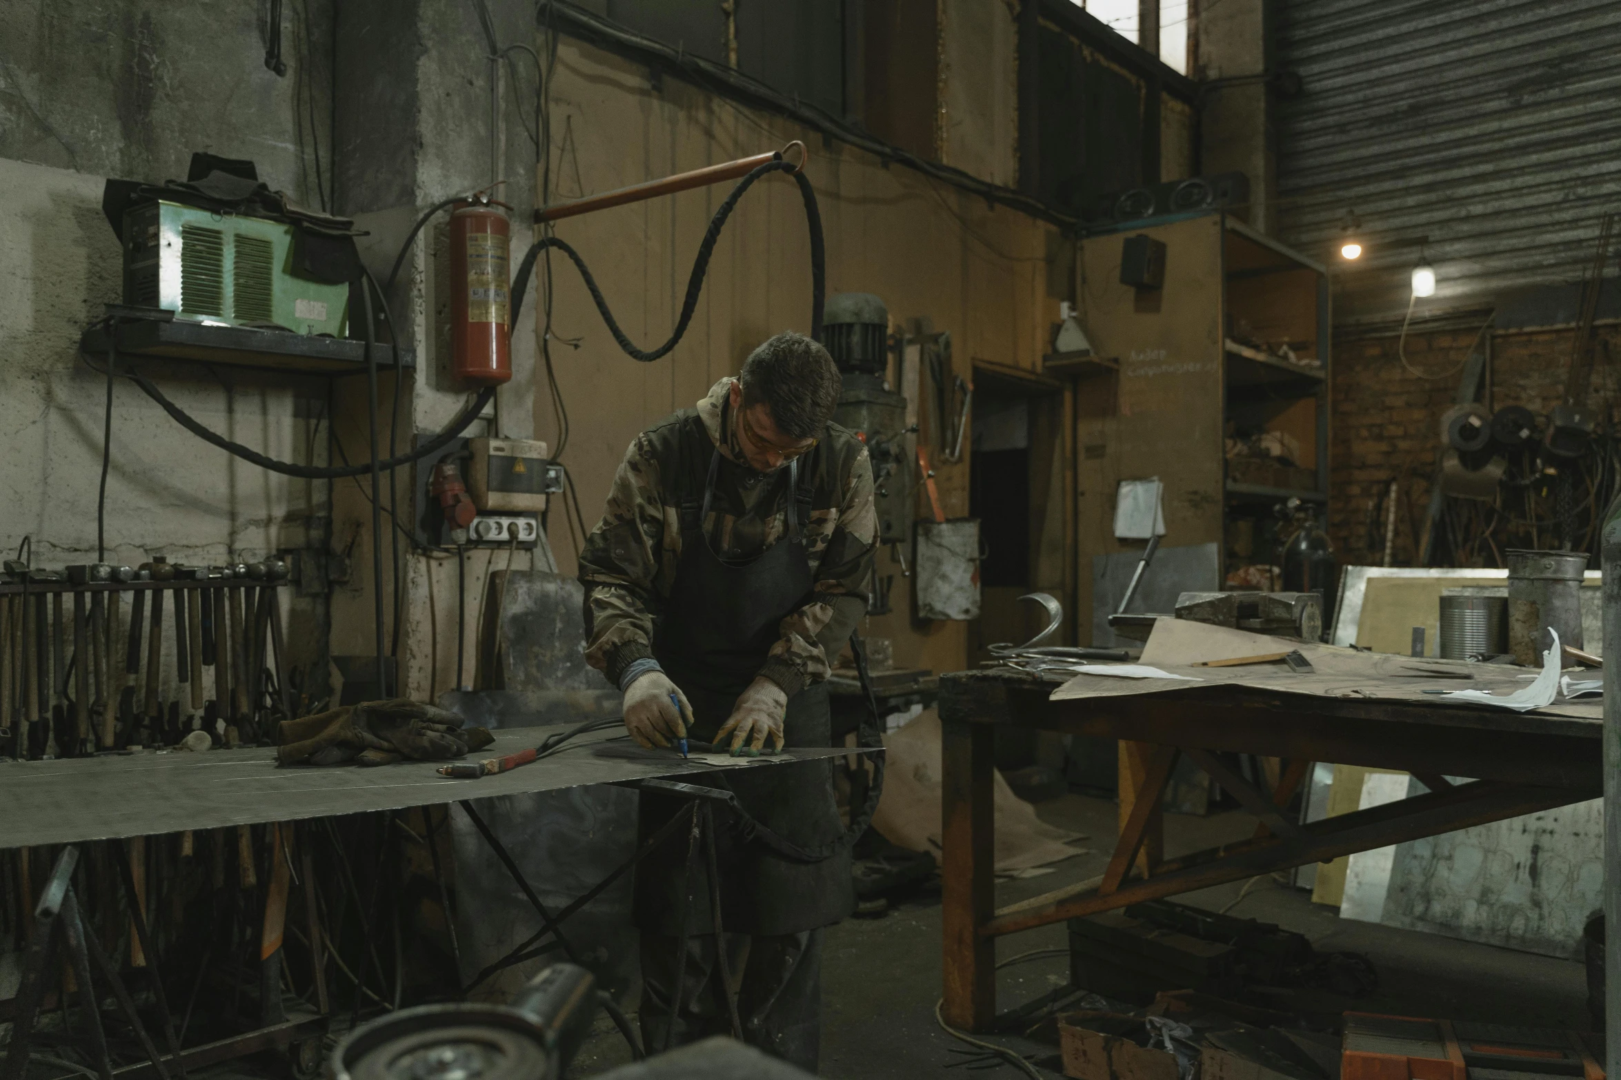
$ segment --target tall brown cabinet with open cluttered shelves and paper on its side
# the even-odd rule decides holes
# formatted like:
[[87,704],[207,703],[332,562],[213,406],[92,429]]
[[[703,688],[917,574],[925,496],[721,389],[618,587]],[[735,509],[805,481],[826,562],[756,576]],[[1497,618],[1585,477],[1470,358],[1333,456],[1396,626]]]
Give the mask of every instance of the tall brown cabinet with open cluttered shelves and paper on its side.
[[[1143,233],[1165,244],[1161,288],[1120,282],[1122,246]],[[1083,236],[1076,301],[1093,350],[1118,358],[1117,372],[1075,390],[1078,599],[1106,644],[1115,578],[1143,549],[1114,536],[1120,481],[1161,479],[1161,551],[1177,552],[1156,557],[1157,588],[1144,581],[1133,610],[1169,610],[1178,591],[1281,565],[1292,526],[1276,507],[1326,508],[1329,283],[1321,266],[1204,210]]]

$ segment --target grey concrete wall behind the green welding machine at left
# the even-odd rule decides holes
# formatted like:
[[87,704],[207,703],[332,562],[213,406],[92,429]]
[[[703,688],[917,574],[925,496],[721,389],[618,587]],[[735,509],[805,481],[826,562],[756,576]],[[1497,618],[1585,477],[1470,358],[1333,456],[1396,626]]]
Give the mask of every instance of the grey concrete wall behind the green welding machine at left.
[[[191,151],[258,162],[272,188],[319,204],[331,160],[331,5],[287,6],[285,78],[264,68],[253,5],[0,0],[0,549],[34,563],[96,560],[105,384],[78,356],[120,300],[105,176],[162,181]],[[305,49],[308,18],[310,47]],[[303,62],[305,52],[313,63]],[[313,108],[313,126],[311,126]],[[182,408],[272,457],[324,463],[326,385],[144,364]],[[133,385],[115,387],[107,557],[224,563],[326,546],[326,486],[263,473],[201,444]],[[289,602],[292,661],[324,683],[324,597]],[[172,654],[172,653],[170,653]]]

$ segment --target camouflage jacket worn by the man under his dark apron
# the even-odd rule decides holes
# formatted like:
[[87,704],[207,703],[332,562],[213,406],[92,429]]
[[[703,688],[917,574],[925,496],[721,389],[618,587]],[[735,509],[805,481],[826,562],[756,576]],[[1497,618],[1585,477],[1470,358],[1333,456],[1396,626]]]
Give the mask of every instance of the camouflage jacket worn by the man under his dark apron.
[[[783,536],[785,487],[744,463],[725,408],[733,382],[721,379],[697,403],[697,415],[723,457],[704,529],[716,555],[751,559]],[[725,432],[723,415],[728,415]],[[614,474],[603,517],[580,552],[585,659],[614,685],[627,664],[653,654],[653,619],[674,586],[681,505],[679,495],[666,491],[665,476],[674,471],[679,424],[691,416],[692,410],[682,410],[635,437]],[[825,455],[827,465],[817,470],[810,518],[802,526],[815,585],[809,602],[781,620],[781,638],[760,669],[789,695],[827,677],[830,657],[817,638],[835,612],[848,617],[851,609],[866,610],[877,533],[867,447],[838,424],[828,424],[815,453]]]

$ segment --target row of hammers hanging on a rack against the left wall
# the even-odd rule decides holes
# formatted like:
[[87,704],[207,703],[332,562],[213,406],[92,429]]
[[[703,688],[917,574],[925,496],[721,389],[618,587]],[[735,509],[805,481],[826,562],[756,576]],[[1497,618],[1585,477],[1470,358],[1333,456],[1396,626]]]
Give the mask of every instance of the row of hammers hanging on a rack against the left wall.
[[[251,745],[274,719],[292,716],[276,596],[287,563],[185,567],[154,555],[138,568],[6,562],[3,570],[0,755],[172,746],[193,732],[211,745]],[[172,682],[162,677],[165,609],[173,612]],[[212,669],[212,696],[203,669]]]

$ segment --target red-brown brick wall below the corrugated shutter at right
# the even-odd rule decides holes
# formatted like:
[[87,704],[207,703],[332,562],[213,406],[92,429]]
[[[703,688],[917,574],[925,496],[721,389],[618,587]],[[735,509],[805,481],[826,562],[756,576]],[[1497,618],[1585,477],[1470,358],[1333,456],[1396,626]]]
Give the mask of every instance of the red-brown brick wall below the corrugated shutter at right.
[[[1572,330],[1508,332],[1491,340],[1493,410],[1524,405],[1538,416],[1559,403],[1571,355]],[[1409,334],[1407,364],[1397,338],[1334,343],[1332,447],[1329,474],[1329,536],[1341,563],[1378,563],[1384,552],[1384,497],[1399,486],[1392,565],[1418,565],[1415,551],[1430,505],[1430,484],[1441,447],[1441,415],[1457,395],[1464,358],[1475,332]],[[1602,327],[1621,366],[1621,334]],[[1621,385],[1603,348],[1593,361],[1593,411],[1610,416]],[[1431,377],[1423,377],[1431,376]],[[1613,424],[1611,424],[1613,427]],[[1580,502],[1587,502],[1585,484]],[[1516,495],[1522,499],[1522,495]],[[1533,497],[1535,499],[1535,497]],[[1540,502],[1537,504],[1540,507]],[[1517,507],[1516,507],[1517,510]],[[1491,528],[1496,551],[1529,544],[1529,529],[1480,504],[1465,507],[1470,534]],[[1524,517],[1517,513],[1516,517]],[[1493,520],[1496,518],[1496,520]],[[1538,538],[1545,541],[1546,538]],[[1543,542],[1542,546],[1551,546]],[[1477,544],[1477,565],[1499,565],[1491,544]]]

